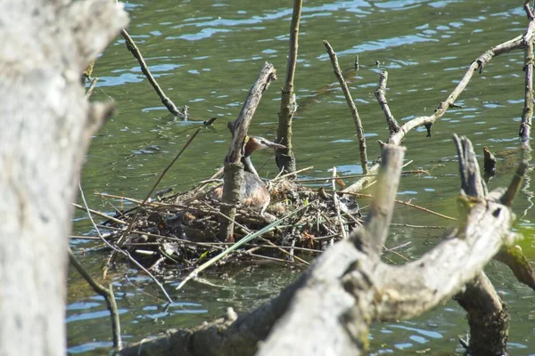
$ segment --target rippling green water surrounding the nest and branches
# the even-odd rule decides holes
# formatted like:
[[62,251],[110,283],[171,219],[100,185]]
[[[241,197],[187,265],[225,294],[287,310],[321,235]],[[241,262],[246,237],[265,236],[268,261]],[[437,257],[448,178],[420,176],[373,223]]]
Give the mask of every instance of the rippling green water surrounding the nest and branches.
[[[517,4],[518,3],[518,4]],[[218,117],[215,130],[203,130],[185,151],[160,188],[184,190],[210,177],[222,164],[228,149],[226,122],[242,108],[253,81],[265,61],[278,70],[279,79],[264,94],[250,133],[275,138],[280,87],[288,51],[292,2],[286,1],[169,1],[139,0],[127,4],[130,35],[144,53],[161,87],[177,106],[188,105],[193,119]],[[446,99],[467,66],[491,46],[523,33],[526,25],[521,2],[487,1],[307,1],[300,27],[300,57],[295,79],[300,108],[294,120],[294,149],[298,167],[314,166],[303,177],[323,177],[337,167],[340,174],[361,172],[358,143],[342,91],[333,76],[322,44],[327,39],[338,53],[342,69],[359,56],[361,69],[349,74],[351,93],[363,119],[368,158],[379,154],[377,140],[388,134],[383,112],[374,98],[378,75],[388,70],[387,98],[392,114],[401,122],[430,115]],[[379,65],[375,66],[375,61]],[[418,129],[407,135],[407,169],[429,174],[407,176],[399,198],[455,215],[459,190],[457,158],[451,134],[466,134],[475,149],[494,152],[516,149],[523,109],[523,53],[499,56],[476,74],[457,104],[432,127],[432,138]],[[169,115],[144,78],[124,41],[117,38],[95,66],[99,77],[92,100],[113,100],[119,115],[95,135],[88,152],[82,184],[89,205],[111,211],[94,191],[144,198],[163,167],[200,126]],[[331,86],[330,86],[331,85]],[[516,157],[517,153],[513,153]],[[267,152],[253,158],[262,175],[276,172]],[[499,173],[490,187],[504,186],[511,178],[511,163],[498,162]],[[523,231],[523,251],[535,255],[530,184],[517,198],[517,228]],[[113,204],[120,206],[119,201]],[[361,202],[362,206],[367,201]],[[128,207],[128,205],[126,205]],[[396,223],[448,225],[431,214],[399,206]],[[75,232],[95,235],[86,216],[77,212]],[[387,245],[397,246],[409,258],[422,255],[436,244],[440,232],[393,228]],[[73,241],[76,250],[95,244]],[[104,254],[105,255],[105,254]],[[388,255],[400,263],[395,256]],[[100,273],[103,254],[86,250],[82,262]],[[510,354],[535,354],[533,293],[514,280],[510,271],[490,263],[487,271],[511,312]],[[181,328],[211,320],[233,306],[244,312],[262,303],[300,270],[260,264],[205,275],[211,283],[190,283],[177,292],[179,279],[166,278],[176,303],[159,295],[150,280],[125,267],[114,277],[123,336],[126,342],[154,335],[165,328]],[[128,276],[128,280],[124,277]],[[102,298],[87,291],[78,274],[70,273],[68,344],[71,353],[109,351],[111,332]],[[460,352],[457,336],[467,331],[464,312],[457,303],[440,305],[416,320],[376,323],[371,332],[371,354],[415,354],[425,349]]]

